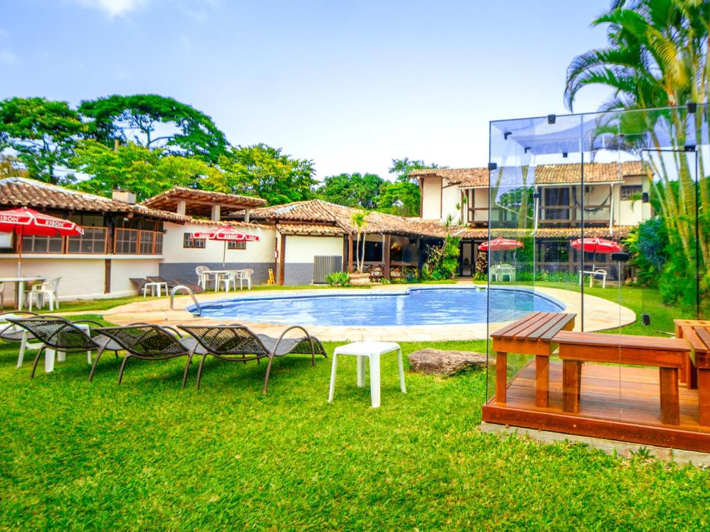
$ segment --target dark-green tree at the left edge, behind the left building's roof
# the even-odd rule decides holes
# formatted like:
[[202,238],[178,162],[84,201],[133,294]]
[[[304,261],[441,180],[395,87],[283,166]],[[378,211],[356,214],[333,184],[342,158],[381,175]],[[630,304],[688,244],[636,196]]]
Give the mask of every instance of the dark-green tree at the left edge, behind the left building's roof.
[[11,98],[0,102],[0,151],[10,148],[30,177],[58,184],[77,140],[86,132],[77,111],[65,101]]

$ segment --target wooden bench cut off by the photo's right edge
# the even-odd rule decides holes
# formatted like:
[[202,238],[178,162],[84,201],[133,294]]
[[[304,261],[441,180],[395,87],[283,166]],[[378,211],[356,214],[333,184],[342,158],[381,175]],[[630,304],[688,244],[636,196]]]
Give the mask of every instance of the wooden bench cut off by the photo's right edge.
[[[674,320],[675,333],[689,348],[683,373],[689,389],[698,389],[698,417],[710,425],[710,321]],[[683,380],[683,379],[681,379]]]

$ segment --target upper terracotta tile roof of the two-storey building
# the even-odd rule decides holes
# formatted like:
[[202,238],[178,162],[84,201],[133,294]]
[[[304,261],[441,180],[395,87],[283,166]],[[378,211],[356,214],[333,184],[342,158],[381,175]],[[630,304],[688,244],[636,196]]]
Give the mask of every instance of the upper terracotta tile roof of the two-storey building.
[[[535,170],[536,184],[576,184],[580,182],[580,165],[567,163],[564,165],[537,165]],[[510,169],[513,173],[508,173]],[[520,167],[506,167],[503,169],[504,179],[520,180],[514,174],[520,174]],[[611,183],[621,182],[624,176],[643,175],[643,162],[587,162],[584,165],[585,183]],[[444,177],[449,184],[459,188],[488,187],[488,168],[434,168],[431,170],[414,170],[410,175],[414,177]],[[530,176],[532,177],[532,175]]]

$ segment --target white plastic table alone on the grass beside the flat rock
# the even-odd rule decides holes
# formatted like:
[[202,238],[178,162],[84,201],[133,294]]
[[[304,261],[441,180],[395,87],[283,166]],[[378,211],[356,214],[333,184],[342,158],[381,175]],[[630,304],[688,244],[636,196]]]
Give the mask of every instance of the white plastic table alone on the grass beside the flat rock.
[[397,363],[400,372],[400,389],[402,393],[407,393],[404,383],[404,366],[402,364],[402,350],[398,343],[394,342],[354,342],[347,345],[340,345],[333,352],[333,362],[330,370],[330,393],[328,402],[333,401],[335,394],[335,373],[338,367],[338,355],[354,355],[357,357],[357,385],[359,388],[365,385],[365,358],[370,359],[370,395],[373,409],[380,406],[380,357],[385,353],[397,352]]

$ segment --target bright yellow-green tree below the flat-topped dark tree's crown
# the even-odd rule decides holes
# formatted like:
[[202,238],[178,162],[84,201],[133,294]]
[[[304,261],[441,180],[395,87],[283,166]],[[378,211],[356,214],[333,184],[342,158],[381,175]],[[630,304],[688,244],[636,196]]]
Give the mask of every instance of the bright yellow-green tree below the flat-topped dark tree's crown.
[[136,193],[138,201],[160,194],[175,185],[198,187],[202,179],[219,174],[194,157],[163,155],[161,150],[127,143],[112,150],[97,140],[84,140],[71,164],[92,177],[73,185],[76,189],[111,196],[113,189]]

